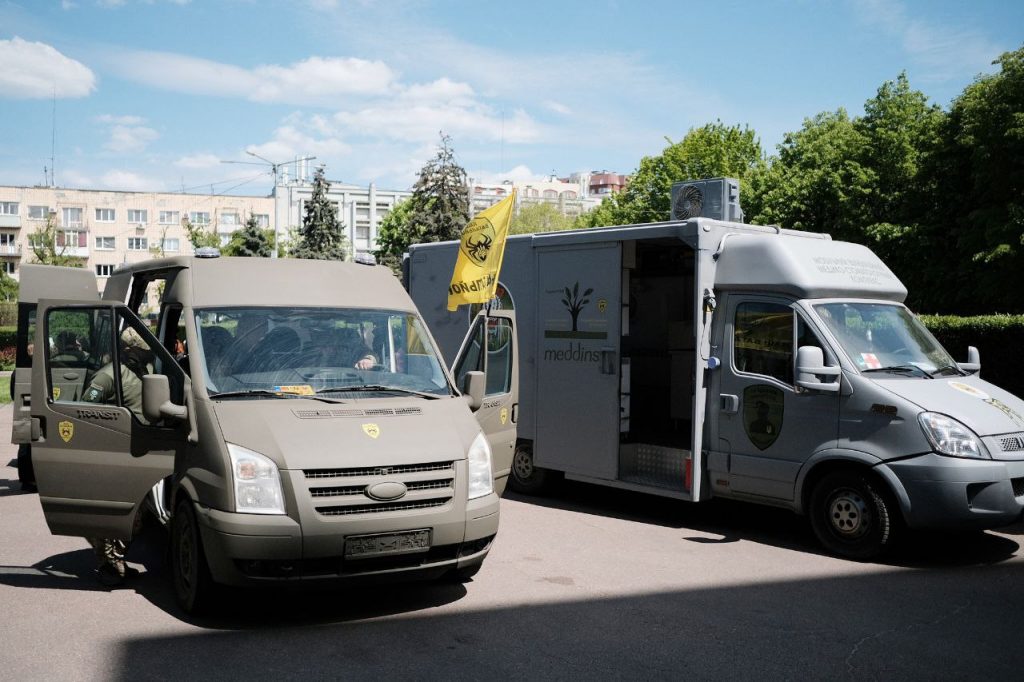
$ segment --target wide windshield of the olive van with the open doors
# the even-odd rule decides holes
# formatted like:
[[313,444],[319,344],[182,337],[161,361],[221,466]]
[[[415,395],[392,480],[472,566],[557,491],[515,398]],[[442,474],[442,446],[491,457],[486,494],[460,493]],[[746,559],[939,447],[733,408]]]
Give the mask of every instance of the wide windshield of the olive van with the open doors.
[[188,350],[212,397],[372,392],[451,395],[416,314],[359,308],[244,307],[196,311],[200,348]]

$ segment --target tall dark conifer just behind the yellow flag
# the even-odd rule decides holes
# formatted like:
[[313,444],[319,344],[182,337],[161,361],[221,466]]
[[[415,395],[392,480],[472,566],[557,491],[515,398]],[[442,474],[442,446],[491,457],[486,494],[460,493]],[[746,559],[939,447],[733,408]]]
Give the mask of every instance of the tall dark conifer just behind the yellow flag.
[[404,212],[378,230],[377,253],[384,261],[400,261],[411,244],[457,240],[469,222],[466,171],[455,162],[452,138],[444,133],[402,206]]

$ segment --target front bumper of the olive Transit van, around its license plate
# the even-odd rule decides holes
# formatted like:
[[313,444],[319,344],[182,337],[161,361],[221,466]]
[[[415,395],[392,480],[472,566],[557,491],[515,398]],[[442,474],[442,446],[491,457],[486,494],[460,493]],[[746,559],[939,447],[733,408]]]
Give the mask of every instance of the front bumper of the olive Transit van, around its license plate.
[[[196,505],[203,548],[213,580],[237,587],[267,584],[321,584],[325,581],[430,580],[456,568],[483,562],[498,532],[497,495],[465,503],[465,513],[410,514],[397,521],[374,523],[352,517],[303,534],[290,516],[238,514]],[[433,543],[426,552],[364,559],[346,559],[349,535],[393,532],[396,528],[430,528]]]

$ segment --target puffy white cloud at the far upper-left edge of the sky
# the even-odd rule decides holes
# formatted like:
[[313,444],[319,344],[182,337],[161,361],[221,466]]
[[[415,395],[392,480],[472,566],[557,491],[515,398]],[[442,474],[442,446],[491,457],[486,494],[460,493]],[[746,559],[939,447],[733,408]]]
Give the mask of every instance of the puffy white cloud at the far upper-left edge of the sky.
[[14,99],[85,97],[96,87],[88,67],[45,43],[0,40],[0,96]]

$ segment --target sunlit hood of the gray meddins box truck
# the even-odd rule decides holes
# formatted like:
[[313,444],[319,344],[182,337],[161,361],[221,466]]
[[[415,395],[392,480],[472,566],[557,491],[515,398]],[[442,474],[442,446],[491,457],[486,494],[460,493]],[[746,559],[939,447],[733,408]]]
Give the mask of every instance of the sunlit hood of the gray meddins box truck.
[[1024,400],[976,375],[871,380],[922,410],[964,422],[979,436],[1024,431]]

